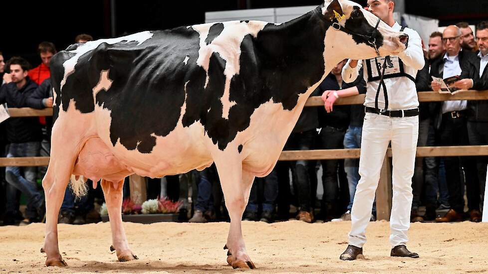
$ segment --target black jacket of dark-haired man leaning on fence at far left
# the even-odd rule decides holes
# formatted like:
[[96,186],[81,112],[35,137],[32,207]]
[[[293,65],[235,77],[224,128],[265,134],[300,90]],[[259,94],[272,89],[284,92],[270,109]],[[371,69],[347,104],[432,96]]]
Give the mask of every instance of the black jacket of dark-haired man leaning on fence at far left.
[[[28,107],[27,98],[37,88],[37,84],[26,78],[27,82],[19,90],[13,82],[4,84],[0,88],[0,104],[7,103],[8,108]],[[7,139],[12,143],[40,141],[42,139],[41,125],[37,117],[11,117],[5,122]]]

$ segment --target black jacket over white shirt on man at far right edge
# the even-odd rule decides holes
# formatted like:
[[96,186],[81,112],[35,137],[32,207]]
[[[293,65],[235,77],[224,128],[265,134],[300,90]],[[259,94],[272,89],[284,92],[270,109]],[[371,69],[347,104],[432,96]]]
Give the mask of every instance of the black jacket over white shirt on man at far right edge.
[[[464,63],[462,79],[473,79],[472,90],[488,90],[488,66],[485,67],[482,77],[480,77],[480,57],[478,52],[471,55]],[[468,109],[470,110],[470,121],[488,122],[488,100],[483,101],[468,101]]]

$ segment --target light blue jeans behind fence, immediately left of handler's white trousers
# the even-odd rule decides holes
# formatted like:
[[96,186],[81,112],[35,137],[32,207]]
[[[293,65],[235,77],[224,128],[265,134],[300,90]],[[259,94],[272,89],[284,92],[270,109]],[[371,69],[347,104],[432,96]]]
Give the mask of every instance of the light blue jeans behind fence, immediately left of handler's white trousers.
[[[344,135],[344,148],[360,148],[363,127],[349,127]],[[359,159],[344,159],[344,171],[349,184],[349,204],[347,210],[352,209],[356,186],[359,182]]]

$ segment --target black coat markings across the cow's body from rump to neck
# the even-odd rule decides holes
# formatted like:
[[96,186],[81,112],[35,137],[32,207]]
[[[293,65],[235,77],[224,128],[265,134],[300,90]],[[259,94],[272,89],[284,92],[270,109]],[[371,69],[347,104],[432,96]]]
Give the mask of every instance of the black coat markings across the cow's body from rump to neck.
[[[61,100],[66,110],[74,99],[77,110],[92,112],[92,89],[100,72],[109,70],[112,85],[97,93],[95,103],[111,111],[113,145],[120,141],[129,150],[151,152],[156,136],[165,137],[176,128],[186,104],[183,126],[201,123],[206,135],[224,150],[249,126],[252,113],[260,105],[271,100],[292,110],[298,95],[321,79],[327,27],[309,12],[278,26],[267,24],[257,37],[246,35],[241,43],[240,72],[231,79],[230,101],[236,104],[230,108],[228,119],[222,117],[221,101],[226,60],[214,52],[208,72],[198,66],[200,34],[191,27],[155,31],[140,45],[136,41],[100,44],[80,57],[56,102]],[[210,43],[222,28],[223,24],[213,25],[206,41]],[[63,73],[62,62],[56,63],[55,70]],[[61,80],[55,77],[53,85],[59,88]]]

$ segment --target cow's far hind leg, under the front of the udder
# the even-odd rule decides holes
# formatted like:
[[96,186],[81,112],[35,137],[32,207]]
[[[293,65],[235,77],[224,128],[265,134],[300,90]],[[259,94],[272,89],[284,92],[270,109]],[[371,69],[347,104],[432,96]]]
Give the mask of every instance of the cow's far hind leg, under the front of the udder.
[[114,184],[105,180],[101,180],[100,185],[105,196],[105,203],[107,204],[108,218],[110,219],[110,228],[112,229],[112,249],[117,253],[119,262],[127,262],[137,260],[129,248],[127,237],[125,236],[124,226],[122,224],[122,190],[124,180]]

